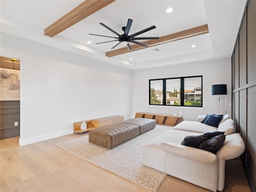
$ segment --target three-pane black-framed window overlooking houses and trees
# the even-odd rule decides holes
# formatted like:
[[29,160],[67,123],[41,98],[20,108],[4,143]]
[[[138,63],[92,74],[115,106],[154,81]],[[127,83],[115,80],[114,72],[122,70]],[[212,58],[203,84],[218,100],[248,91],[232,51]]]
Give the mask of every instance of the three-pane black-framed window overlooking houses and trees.
[[202,76],[149,80],[149,104],[202,107]]

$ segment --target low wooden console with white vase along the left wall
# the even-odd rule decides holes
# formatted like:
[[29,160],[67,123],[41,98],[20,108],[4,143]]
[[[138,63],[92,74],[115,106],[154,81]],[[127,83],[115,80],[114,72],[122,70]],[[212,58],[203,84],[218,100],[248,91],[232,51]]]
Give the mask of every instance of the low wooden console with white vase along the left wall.
[[[73,123],[73,131],[79,132],[82,135],[82,132],[90,131],[96,128],[104,127],[107,125],[112,125],[115,123],[120,123],[124,121],[124,116],[115,115],[115,116],[109,116],[104,118],[98,118],[98,119],[92,119],[92,120],[84,120],[84,122],[87,125],[87,129],[81,130],[81,124],[83,121],[80,122],[74,122]],[[88,128],[90,125],[90,128]]]

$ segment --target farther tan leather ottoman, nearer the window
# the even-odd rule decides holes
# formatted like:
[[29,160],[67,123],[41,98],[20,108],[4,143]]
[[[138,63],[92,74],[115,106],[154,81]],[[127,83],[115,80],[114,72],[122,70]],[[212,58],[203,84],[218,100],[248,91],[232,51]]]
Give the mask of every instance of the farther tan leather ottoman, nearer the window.
[[135,118],[124,121],[124,123],[138,125],[140,128],[140,134],[147,132],[156,127],[155,119],[147,118]]

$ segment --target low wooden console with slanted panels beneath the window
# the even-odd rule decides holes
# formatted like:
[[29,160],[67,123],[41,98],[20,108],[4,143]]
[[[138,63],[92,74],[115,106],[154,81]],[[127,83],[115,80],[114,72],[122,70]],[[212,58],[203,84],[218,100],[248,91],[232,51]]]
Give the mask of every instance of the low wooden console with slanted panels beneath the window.
[[156,124],[164,124],[164,125],[169,125],[169,126],[175,126],[183,121],[183,118],[179,117],[179,116],[143,113],[143,112],[138,112],[135,114],[135,118],[139,118],[139,117],[155,119]]

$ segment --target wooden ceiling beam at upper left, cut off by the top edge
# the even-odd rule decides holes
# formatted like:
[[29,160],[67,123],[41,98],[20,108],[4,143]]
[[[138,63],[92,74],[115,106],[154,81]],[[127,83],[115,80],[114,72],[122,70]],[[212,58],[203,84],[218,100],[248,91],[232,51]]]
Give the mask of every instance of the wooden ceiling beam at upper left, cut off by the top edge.
[[114,1],[116,0],[86,0],[62,18],[45,28],[44,35],[52,37],[59,34]]

